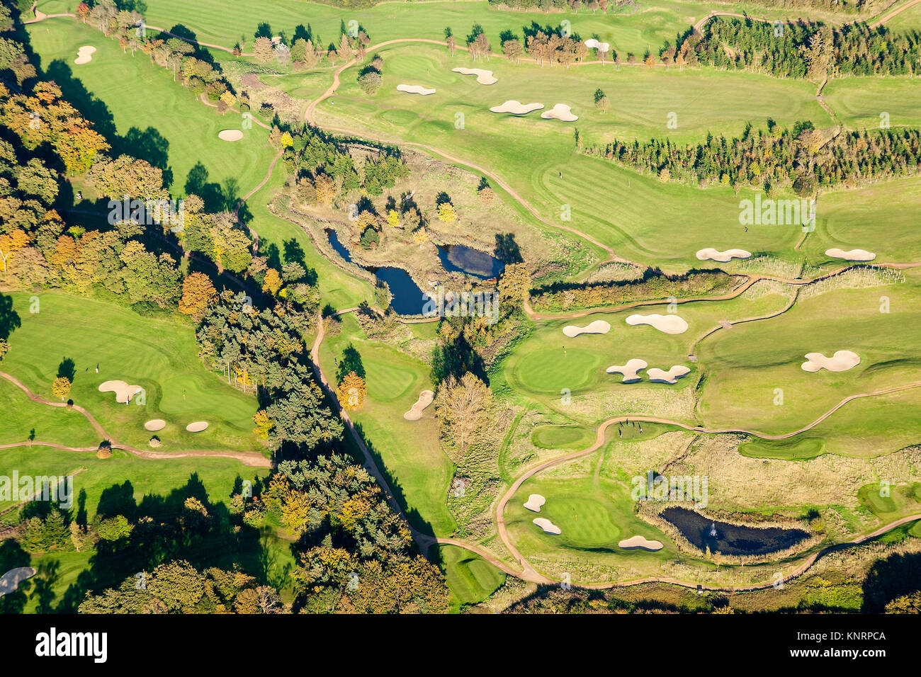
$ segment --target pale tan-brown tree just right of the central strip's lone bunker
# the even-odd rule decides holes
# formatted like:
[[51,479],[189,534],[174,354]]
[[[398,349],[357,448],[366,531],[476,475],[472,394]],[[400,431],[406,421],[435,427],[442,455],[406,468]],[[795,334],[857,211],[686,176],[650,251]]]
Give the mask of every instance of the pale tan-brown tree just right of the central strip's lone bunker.
[[461,379],[453,375],[441,383],[435,399],[435,413],[442,431],[460,450],[460,461],[466,456],[472,442],[489,425],[493,392],[471,372]]

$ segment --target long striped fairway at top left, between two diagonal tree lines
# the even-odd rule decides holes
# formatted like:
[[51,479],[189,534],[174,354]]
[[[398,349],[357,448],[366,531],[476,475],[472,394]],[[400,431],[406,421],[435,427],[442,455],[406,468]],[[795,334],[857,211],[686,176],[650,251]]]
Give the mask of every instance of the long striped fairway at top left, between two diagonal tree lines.
[[[69,74],[66,79],[57,78],[64,98],[81,109],[97,131],[106,133],[105,119],[111,118],[120,136],[132,128],[153,129],[166,139],[172,193],[185,194],[189,171],[199,162],[208,171],[207,181],[229,188],[233,197],[249,193],[265,176],[274,156],[268,132],[254,125],[241,141],[221,141],[217,138],[220,130],[240,129],[239,113],[221,116],[206,107],[189,89],[174,83],[168,69],[151,63],[146,54],[122,53],[117,41],[71,18],[29,26],[29,40],[43,72],[57,72],[63,67]],[[87,44],[96,47],[92,61],[74,64],[77,48]],[[71,78],[82,87],[69,84]],[[80,88],[95,99],[92,111],[82,110],[87,105],[85,97],[76,95]],[[132,152],[145,155],[137,148]]]

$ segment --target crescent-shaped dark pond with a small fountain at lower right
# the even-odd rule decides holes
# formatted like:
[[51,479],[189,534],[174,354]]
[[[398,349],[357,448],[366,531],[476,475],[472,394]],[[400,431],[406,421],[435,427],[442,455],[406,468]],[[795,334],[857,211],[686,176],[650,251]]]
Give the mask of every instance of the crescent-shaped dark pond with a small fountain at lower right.
[[[706,518],[687,508],[665,508],[662,519],[681,531],[682,536],[702,551],[720,554],[771,554],[792,547],[809,538],[801,529],[780,527],[746,527]],[[716,530],[716,535],[713,531]]]

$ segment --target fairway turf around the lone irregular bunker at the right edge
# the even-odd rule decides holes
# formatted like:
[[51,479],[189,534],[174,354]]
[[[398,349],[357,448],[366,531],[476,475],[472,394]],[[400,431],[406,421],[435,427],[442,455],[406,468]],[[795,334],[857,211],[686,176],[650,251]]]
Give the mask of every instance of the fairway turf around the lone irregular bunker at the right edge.
[[[847,395],[880,391],[918,380],[917,345],[921,316],[915,303],[921,274],[905,271],[906,282],[864,289],[837,289],[800,299],[783,315],[721,330],[698,347],[707,374],[700,412],[713,427],[746,427],[787,433],[806,426]],[[890,312],[880,312],[880,298]],[[860,364],[842,372],[804,371],[806,353],[832,356],[852,350]],[[783,403],[775,404],[780,389]],[[913,415],[918,391],[900,400],[907,408],[885,413],[885,400],[849,403],[830,422],[860,428],[857,438],[839,438],[826,450],[872,455],[899,449],[921,433]],[[857,415],[857,411],[863,415]],[[880,418],[877,418],[877,414]],[[900,414],[901,412],[901,414]],[[868,444],[872,439],[874,444]],[[882,440],[888,440],[883,446]]]

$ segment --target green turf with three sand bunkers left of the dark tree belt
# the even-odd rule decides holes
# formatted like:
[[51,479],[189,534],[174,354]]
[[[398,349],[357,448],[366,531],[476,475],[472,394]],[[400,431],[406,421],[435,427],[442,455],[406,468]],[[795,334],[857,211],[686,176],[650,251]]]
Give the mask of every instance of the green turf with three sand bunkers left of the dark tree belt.
[[[61,292],[39,294],[38,306],[28,294],[11,296],[22,326],[10,335],[2,368],[42,398],[54,399],[52,381],[69,358],[76,371],[70,399],[119,442],[145,448],[152,433],[144,423],[162,418],[167,421],[157,432],[162,451],[263,449],[252,433],[255,397],[204,368],[189,324]],[[29,311],[36,308],[39,312]],[[99,384],[111,379],[144,388],[146,403],[118,404],[114,392],[99,392]],[[20,426],[29,426],[29,408],[13,411],[26,417]],[[192,421],[203,420],[211,424],[207,430],[186,432]]]

